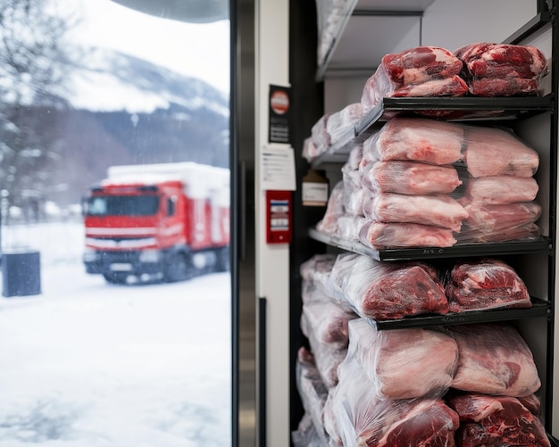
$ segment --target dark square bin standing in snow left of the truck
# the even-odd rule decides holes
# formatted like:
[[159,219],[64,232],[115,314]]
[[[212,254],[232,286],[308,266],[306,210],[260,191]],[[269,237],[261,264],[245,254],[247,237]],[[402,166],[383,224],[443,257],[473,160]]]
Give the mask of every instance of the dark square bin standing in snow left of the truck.
[[25,296],[41,293],[41,265],[37,251],[10,250],[2,252],[4,296]]

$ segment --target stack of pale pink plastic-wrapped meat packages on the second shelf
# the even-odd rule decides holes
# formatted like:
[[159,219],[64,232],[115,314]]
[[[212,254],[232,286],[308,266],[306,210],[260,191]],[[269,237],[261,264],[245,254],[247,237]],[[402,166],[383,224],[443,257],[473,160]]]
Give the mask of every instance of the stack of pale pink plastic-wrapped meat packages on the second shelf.
[[352,150],[316,228],[377,250],[538,239],[538,164],[508,128],[396,117]]

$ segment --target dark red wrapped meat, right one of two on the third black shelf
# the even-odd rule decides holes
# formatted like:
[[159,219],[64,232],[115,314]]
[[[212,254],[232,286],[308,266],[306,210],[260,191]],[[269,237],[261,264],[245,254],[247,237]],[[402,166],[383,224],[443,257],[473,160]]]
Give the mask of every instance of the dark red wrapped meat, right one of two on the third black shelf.
[[446,296],[451,312],[532,305],[518,273],[504,261],[488,258],[456,262],[448,272]]

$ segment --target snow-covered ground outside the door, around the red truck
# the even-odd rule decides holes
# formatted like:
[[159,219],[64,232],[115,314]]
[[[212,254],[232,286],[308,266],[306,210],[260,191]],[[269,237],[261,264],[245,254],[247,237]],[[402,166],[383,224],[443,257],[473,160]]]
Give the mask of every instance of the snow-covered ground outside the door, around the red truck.
[[230,277],[111,286],[79,223],[2,228],[41,294],[0,298],[0,447],[230,445]]

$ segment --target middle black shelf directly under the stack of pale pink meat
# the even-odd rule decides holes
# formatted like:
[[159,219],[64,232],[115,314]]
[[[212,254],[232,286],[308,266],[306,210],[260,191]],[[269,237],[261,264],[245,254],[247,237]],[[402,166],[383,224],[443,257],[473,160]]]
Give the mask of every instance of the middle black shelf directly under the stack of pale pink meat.
[[309,230],[309,236],[323,244],[329,244],[348,252],[355,252],[370,256],[377,261],[410,261],[443,258],[459,258],[472,256],[498,256],[505,254],[546,253],[551,254],[551,239],[540,237],[533,241],[514,241],[490,244],[455,244],[452,247],[419,247],[374,250],[358,241],[349,241],[336,236],[326,235],[314,228]]

